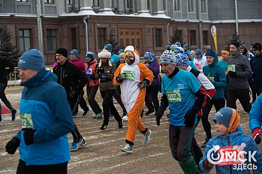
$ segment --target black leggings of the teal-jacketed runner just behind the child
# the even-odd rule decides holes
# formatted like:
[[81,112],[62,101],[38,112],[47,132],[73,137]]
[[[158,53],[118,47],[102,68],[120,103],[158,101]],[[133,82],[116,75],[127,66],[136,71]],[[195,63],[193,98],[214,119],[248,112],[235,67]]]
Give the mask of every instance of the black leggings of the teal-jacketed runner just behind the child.
[[216,109],[216,112],[217,112],[222,107],[225,107],[225,103],[226,103],[225,98],[211,99],[209,102],[207,102],[207,104],[202,109],[203,115],[201,117],[201,120],[202,120],[202,125],[203,125],[203,128],[206,132],[208,139],[212,138],[211,125],[208,121],[209,112],[211,111],[213,105],[215,106],[215,109]]

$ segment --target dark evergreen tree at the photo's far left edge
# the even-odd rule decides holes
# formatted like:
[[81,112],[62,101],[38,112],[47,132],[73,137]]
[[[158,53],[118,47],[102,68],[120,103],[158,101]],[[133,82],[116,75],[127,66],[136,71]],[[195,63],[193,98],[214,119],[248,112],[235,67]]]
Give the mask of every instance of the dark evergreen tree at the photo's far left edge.
[[15,50],[17,46],[12,45],[11,41],[12,33],[9,29],[4,25],[3,30],[1,32],[1,44],[0,44],[0,56],[7,58],[11,61],[15,67],[17,67],[18,57],[21,56],[19,50]]

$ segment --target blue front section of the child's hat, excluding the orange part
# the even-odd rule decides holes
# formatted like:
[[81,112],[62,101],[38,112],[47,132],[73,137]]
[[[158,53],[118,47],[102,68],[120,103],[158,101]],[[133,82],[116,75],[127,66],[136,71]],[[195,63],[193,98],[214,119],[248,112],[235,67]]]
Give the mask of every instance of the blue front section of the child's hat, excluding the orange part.
[[216,121],[218,121],[224,126],[228,127],[231,117],[232,117],[232,108],[223,107],[216,113],[216,115],[213,118],[213,121],[215,123],[217,123]]

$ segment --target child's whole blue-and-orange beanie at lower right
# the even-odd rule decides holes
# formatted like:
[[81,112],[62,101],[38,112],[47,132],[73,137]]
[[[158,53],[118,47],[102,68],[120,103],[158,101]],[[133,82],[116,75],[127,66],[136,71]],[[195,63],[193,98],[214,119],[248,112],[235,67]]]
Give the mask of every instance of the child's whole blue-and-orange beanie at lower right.
[[228,129],[225,135],[227,135],[237,130],[240,124],[240,116],[237,113],[236,109],[233,109],[231,107],[223,107],[216,113],[213,121],[215,123],[217,123],[218,121],[226,126]]

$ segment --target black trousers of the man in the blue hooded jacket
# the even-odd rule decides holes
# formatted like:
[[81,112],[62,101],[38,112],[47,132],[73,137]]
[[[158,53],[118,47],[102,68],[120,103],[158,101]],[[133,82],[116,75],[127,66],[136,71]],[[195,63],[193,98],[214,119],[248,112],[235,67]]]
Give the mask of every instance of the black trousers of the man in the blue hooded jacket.
[[25,166],[25,162],[19,160],[16,174],[67,174],[67,163]]

